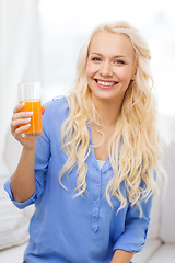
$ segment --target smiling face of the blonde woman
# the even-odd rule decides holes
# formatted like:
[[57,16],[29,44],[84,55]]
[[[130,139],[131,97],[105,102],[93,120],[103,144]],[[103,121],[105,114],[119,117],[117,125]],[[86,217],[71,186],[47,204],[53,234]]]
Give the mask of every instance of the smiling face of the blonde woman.
[[135,71],[135,52],[129,37],[105,31],[94,35],[86,64],[93,100],[121,102]]

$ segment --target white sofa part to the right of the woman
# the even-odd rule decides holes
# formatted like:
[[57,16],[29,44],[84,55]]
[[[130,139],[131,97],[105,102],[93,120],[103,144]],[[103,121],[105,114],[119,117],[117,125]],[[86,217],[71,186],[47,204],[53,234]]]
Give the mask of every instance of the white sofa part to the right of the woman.
[[154,197],[148,240],[133,263],[175,263],[175,141],[163,144],[162,163],[167,184],[159,180],[159,196]]

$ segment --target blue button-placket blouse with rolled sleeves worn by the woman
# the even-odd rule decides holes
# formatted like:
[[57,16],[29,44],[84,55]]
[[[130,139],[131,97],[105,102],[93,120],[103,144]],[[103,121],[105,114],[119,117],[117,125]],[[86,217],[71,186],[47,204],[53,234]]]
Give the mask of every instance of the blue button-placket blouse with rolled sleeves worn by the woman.
[[61,150],[61,126],[68,115],[66,98],[47,103],[43,136],[37,138],[34,195],[18,203],[13,199],[10,180],[4,185],[20,209],[35,203],[24,260],[30,263],[109,263],[117,249],[139,252],[145,242],[152,197],[148,202],[140,201],[141,218],[138,206],[130,207],[129,202],[117,214],[119,201],[112,197],[113,208],[106,201],[106,186],[114,175],[113,169],[109,159],[100,169],[92,138],[86,159],[85,193],[72,197],[77,187],[77,167],[68,178],[62,176],[67,190],[60,185],[59,172],[67,161]]

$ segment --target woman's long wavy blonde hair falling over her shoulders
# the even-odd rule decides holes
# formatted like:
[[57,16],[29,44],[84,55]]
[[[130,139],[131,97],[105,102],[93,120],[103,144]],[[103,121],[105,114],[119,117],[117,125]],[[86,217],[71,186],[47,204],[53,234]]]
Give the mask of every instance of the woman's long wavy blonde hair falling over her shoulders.
[[[62,185],[62,175],[69,174],[78,162],[74,196],[83,194],[86,190],[85,160],[90,155],[88,125],[96,124],[100,127],[102,122],[91,100],[85,70],[91,39],[103,31],[127,35],[133,47],[137,62],[136,79],[130,82],[126,91],[120,116],[108,148],[114,178],[106,187],[106,198],[112,205],[110,196],[116,196],[120,201],[119,209],[121,209],[126,206],[127,198],[133,206],[139,204],[140,198],[149,198],[156,190],[153,170],[156,168],[160,152],[156,103],[149,68],[151,55],[139,32],[126,22],[100,25],[80,50],[74,87],[67,98],[70,114],[62,126],[62,150],[67,153],[68,161],[59,174],[59,180]],[[127,190],[127,198],[121,193],[122,182]],[[141,187],[141,183],[144,187]]]

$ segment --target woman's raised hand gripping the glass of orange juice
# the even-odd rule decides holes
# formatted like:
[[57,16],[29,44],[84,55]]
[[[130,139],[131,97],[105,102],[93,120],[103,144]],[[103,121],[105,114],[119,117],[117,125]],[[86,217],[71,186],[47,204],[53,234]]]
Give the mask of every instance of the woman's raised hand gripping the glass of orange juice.
[[[36,137],[22,137],[22,133],[30,128],[31,116],[33,113],[31,112],[21,112],[24,107],[24,104],[18,104],[14,107],[12,121],[11,121],[11,133],[20,144],[28,150],[34,150],[36,147]],[[42,106],[42,114],[44,114],[46,106]]]

